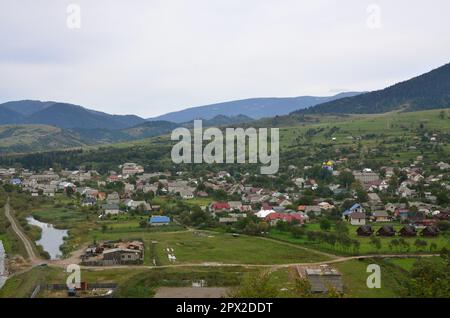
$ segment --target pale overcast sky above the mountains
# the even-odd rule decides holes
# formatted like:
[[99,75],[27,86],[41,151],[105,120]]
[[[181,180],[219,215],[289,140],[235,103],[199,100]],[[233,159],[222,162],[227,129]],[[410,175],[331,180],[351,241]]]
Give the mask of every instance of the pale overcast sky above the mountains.
[[448,0],[0,0],[0,102],[145,118],[370,91],[450,62]]

